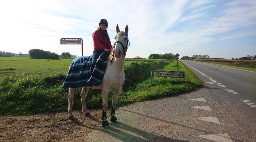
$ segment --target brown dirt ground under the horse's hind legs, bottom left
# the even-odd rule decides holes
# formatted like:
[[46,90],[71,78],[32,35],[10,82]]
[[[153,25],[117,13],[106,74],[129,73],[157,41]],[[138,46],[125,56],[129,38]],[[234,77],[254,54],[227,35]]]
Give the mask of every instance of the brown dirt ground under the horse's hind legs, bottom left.
[[73,114],[76,120],[68,120],[68,112],[0,116],[0,142],[86,141],[85,136],[101,126],[102,110],[91,110],[88,116],[81,111]]

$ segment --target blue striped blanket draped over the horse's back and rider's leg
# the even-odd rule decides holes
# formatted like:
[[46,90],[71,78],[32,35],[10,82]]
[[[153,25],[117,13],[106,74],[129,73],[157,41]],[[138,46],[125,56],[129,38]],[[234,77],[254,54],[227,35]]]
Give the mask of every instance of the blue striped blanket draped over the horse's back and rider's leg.
[[96,61],[95,68],[90,76],[90,66],[92,64],[92,56],[81,56],[75,58],[68,69],[68,74],[64,80],[62,88],[78,88],[89,86],[99,86],[103,80],[108,59],[107,52],[104,51]]

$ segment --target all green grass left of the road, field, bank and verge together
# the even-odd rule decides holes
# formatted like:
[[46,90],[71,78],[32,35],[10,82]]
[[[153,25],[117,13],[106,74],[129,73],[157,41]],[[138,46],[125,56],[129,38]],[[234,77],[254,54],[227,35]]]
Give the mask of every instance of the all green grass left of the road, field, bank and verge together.
[[[66,111],[68,88],[62,83],[72,59],[35,60],[28,57],[0,58],[0,115],[29,115],[40,112]],[[181,62],[170,60],[126,60],[126,80],[117,106],[190,92],[202,82]],[[186,72],[186,81],[180,78],[154,77],[151,70],[180,70]],[[161,89],[159,89],[161,88]],[[77,88],[74,109],[81,109]],[[109,106],[113,90],[109,93]],[[90,90],[88,108],[102,108],[100,90]]]

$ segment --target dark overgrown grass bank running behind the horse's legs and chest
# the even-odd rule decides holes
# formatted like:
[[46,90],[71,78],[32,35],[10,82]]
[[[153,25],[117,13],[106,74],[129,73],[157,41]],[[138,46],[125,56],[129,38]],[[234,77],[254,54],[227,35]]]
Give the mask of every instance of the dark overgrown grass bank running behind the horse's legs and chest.
[[[126,80],[123,90],[128,90],[138,82],[150,77],[151,70],[158,70],[169,62],[132,63],[124,67]],[[0,78],[0,115],[27,115],[40,112],[66,111],[68,106],[68,88],[62,88],[66,75],[50,74],[43,76],[25,77],[15,80],[11,77]],[[76,89],[73,108],[81,108],[80,92]],[[87,106],[101,108],[100,90],[89,90]],[[109,98],[113,91],[110,90]]]

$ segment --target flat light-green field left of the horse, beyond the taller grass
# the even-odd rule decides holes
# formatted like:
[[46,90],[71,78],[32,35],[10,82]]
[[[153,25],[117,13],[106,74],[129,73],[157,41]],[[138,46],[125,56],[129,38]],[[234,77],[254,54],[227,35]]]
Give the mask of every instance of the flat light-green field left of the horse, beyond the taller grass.
[[30,57],[0,57],[0,77],[24,78],[43,74],[67,74],[73,59],[47,60]]

